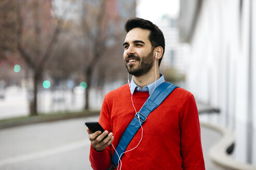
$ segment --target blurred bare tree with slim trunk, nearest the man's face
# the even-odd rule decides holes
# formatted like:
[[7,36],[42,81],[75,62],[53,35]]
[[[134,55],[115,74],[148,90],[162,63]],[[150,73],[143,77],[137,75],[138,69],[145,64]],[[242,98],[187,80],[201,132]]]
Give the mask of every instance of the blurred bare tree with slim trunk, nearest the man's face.
[[[135,8],[124,7],[122,10],[129,11],[129,15],[121,17],[122,15],[120,15],[120,11],[117,8],[118,3],[118,1],[105,0],[82,1],[83,73],[87,83],[85,109],[89,108],[89,91],[92,87],[92,76],[96,65],[102,58],[105,58],[110,49],[117,50],[120,49],[119,47],[122,47],[120,38],[123,38],[124,31],[123,28],[120,29],[120,25],[124,25],[124,20],[126,21],[128,18],[135,16]],[[134,7],[136,1],[132,1],[130,4]],[[130,6],[128,5],[128,7]],[[111,54],[113,53],[112,51]],[[108,68],[111,69],[110,67]],[[102,71],[98,73],[103,75]]]

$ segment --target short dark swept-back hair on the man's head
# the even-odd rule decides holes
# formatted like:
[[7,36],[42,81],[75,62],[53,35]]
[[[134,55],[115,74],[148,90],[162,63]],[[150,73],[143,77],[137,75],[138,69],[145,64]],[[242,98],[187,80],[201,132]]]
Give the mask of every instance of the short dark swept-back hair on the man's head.
[[[156,48],[161,46],[163,48],[163,54],[164,54],[164,49],[165,49],[164,36],[162,31],[159,29],[157,25],[153,24],[151,21],[148,21],[142,18],[137,18],[137,17],[131,18],[125,23],[124,29],[127,33],[135,28],[149,30],[150,34],[148,38],[152,47]],[[162,58],[163,58],[163,55],[162,55]],[[159,66],[162,61],[162,58],[159,59]]]

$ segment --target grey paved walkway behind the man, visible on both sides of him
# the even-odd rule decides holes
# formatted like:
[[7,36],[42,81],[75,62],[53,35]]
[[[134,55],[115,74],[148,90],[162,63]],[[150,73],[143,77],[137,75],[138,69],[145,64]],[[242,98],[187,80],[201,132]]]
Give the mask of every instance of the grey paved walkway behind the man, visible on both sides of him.
[[[98,116],[90,116],[1,129],[0,169],[92,169],[84,122],[97,120]],[[221,135],[201,127],[201,137],[206,169],[224,170],[208,157],[209,148]]]

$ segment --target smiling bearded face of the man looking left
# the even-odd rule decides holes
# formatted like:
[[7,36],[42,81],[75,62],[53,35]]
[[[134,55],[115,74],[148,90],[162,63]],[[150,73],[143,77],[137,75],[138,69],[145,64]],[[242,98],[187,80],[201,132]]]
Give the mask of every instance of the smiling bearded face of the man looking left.
[[132,29],[125,37],[123,59],[129,74],[145,75],[153,66],[153,49],[148,39],[150,31]]

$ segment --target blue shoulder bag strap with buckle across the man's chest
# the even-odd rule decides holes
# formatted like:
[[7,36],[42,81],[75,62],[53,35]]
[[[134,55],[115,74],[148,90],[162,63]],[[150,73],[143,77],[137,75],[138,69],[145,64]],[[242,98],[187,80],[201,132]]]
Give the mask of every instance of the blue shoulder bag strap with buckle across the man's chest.
[[[135,114],[135,117],[133,118],[131,123],[126,127],[116,149],[118,154],[117,152],[114,152],[114,155],[112,157],[110,169],[117,168],[120,155],[125,151],[127,146],[130,144],[133,136],[139,130],[140,123],[143,124],[146,121],[150,112],[155,110],[175,88],[177,88],[177,86],[175,86],[174,84],[170,82],[163,82],[153,91],[144,106]],[[123,154],[121,155],[121,158],[122,156]]]

